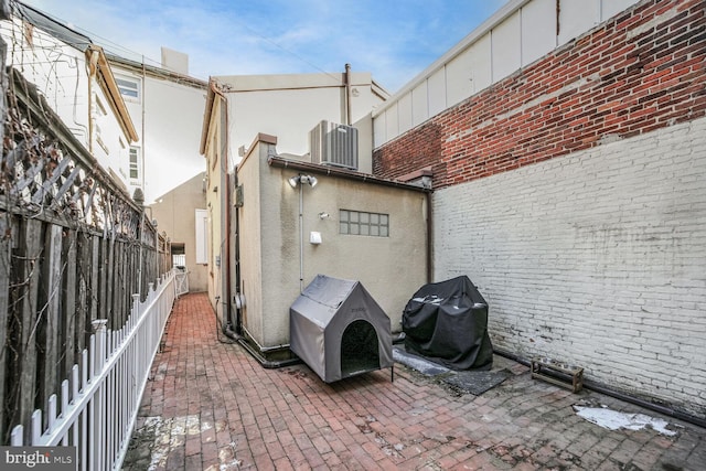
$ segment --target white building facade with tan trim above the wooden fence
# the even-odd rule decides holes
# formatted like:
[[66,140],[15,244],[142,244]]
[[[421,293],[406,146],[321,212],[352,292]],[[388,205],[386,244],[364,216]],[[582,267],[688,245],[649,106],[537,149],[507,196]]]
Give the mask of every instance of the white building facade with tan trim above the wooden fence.
[[101,47],[22,3],[0,22],[7,62],[34,84],[98,162],[128,191],[130,146],[139,140]]

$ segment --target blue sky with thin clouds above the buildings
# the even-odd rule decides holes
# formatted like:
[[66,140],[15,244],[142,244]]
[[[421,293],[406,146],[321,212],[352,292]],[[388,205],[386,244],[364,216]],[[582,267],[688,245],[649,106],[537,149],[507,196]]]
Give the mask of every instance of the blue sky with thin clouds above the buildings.
[[394,93],[506,0],[24,0],[128,58],[190,74],[371,72]]

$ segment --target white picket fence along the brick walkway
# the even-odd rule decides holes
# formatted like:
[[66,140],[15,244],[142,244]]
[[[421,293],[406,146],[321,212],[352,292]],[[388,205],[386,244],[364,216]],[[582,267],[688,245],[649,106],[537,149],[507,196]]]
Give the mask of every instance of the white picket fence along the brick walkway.
[[71,381],[62,383],[60,398],[50,398],[45,420],[42,410],[35,410],[29,437],[19,425],[12,429],[11,446],[75,446],[78,470],[120,469],[176,298],[174,279],[172,270],[157,288],[150,283],[145,302],[133,295],[130,317],[120,330],[109,331],[105,321],[96,321],[81,365],[74,365]]

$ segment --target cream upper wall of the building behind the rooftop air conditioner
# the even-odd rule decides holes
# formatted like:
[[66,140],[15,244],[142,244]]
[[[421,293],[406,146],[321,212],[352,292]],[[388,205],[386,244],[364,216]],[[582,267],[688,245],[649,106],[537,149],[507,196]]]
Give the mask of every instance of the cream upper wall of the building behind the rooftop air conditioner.
[[309,131],[321,120],[347,124],[359,130],[359,170],[371,173],[373,122],[371,111],[387,93],[370,73],[351,73],[350,99],[345,74],[284,74],[213,77],[228,99],[231,164],[240,150],[249,151],[253,136],[277,136],[279,152],[303,156],[310,151]]

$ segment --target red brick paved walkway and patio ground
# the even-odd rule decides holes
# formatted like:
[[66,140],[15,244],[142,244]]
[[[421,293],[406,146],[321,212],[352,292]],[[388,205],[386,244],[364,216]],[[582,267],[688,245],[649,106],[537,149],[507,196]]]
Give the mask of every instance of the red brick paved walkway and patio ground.
[[[706,470],[706,430],[592,393],[513,375],[474,396],[397,365],[331,385],[306,365],[265,370],[220,342],[205,295],[175,304],[126,470]],[[668,421],[609,430],[573,406]]]

